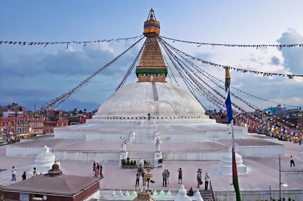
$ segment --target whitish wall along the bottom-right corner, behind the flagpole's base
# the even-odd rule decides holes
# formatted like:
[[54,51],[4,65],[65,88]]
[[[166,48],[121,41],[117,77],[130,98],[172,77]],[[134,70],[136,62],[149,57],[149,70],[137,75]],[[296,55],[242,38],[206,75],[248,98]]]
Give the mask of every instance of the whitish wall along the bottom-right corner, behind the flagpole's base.
[[[269,188],[269,187],[268,187]],[[234,201],[236,195],[233,191],[214,191],[216,201]],[[271,190],[273,199],[278,200],[279,190]],[[285,197],[288,200],[302,200],[303,190],[281,190],[281,197]],[[268,190],[241,190],[242,201],[255,201],[255,200],[270,200],[269,189]]]

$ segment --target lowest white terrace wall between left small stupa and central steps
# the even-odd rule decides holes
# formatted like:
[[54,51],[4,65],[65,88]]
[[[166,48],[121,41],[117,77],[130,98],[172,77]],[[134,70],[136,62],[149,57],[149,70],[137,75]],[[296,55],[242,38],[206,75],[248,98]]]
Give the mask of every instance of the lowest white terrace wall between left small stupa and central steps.
[[120,152],[79,152],[67,150],[54,150],[58,161],[100,161],[113,162],[120,160]]

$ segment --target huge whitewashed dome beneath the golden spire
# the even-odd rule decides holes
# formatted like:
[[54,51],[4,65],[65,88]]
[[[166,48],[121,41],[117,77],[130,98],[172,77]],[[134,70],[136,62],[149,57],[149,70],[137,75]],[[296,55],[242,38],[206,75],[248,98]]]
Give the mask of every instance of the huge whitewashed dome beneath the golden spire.
[[122,87],[98,108],[94,119],[143,119],[148,113],[154,119],[209,119],[195,97],[164,82],[137,82]]

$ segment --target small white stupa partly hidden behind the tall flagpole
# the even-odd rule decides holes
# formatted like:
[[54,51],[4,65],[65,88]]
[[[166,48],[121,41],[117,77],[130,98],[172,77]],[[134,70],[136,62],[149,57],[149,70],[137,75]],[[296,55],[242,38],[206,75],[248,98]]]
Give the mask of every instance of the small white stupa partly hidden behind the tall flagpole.
[[[222,174],[232,174],[232,150],[229,149],[229,152],[222,157],[219,172]],[[247,174],[247,167],[244,166],[242,157],[236,153],[236,164],[238,174]]]

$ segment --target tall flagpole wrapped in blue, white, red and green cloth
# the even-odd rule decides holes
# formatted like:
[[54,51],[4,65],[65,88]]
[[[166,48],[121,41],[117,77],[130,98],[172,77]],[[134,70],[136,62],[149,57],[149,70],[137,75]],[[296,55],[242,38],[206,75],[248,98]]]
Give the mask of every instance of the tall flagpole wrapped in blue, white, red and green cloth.
[[230,126],[231,131],[231,144],[232,144],[232,184],[234,186],[236,192],[236,201],[241,201],[241,194],[239,188],[239,181],[238,181],[238,171],[237,171],[237,163],[236,163],[236,150],[235,150],[235,134],[233,128],[233,117],[232,117],[232,108],[231,108],[231,99],[230,99],[230,72],[229,67],[225,67],[225,92],[228,91],[227,98],[225,100],[226,111],[227,111],[227,118],[228,124]]

